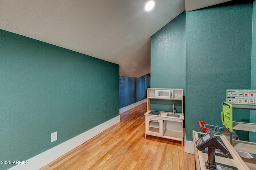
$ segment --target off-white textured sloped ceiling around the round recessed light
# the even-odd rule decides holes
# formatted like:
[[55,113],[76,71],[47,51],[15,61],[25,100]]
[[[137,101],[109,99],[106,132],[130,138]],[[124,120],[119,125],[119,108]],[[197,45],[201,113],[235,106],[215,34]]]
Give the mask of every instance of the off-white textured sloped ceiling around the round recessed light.
[[[0,0],[0,29],[119,64],[120,75],[141,77],[150,73],[150,36],[185,10],[185,0],[155,0],[150,12],[146,2]],[[205,2],[212,0],[186,0],[186,8]]]

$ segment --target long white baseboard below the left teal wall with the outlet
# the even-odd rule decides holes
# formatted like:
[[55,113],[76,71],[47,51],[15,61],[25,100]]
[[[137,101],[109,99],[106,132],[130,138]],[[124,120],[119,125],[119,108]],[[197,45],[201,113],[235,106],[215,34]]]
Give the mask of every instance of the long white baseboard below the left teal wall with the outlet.
[[98,125],[97,127],[94,127],[70,140],[67,140],[66,142],[63,142],[62,144],[59,144],[58,146],[55,146],[54,148],[51,148],[49,150],[46,150],[45,152],[38,154],[37,156],[34,156],[33,158],[30,158],[26,161],[27,164],[18,164],[9,170],[35,170],[40,169],[50,162],[56,160],[60,156],[66,154],[67,152],[73,150],[77,146],[83,144],[87,140],[93,138],[94,136],[100,134],[104,130],[112,127],[116,123],[120,122],[120,115],[117,117],[114,117],[113,119],[110,119],[109,121],[106,121],[102,123],[101,125]]

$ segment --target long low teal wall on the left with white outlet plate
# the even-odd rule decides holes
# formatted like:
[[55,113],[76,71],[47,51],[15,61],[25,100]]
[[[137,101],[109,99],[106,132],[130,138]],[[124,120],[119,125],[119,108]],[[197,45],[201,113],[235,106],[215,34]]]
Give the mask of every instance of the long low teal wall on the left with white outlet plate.
[[119,65],[0,30],[0,160],[28,160],[118,115]]

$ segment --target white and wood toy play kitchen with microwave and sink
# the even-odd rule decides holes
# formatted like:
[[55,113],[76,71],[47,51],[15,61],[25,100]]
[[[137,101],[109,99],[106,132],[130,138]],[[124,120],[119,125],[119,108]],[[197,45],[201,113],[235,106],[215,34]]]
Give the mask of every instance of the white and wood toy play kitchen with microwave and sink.
[[[151,111],[150,100],[182,101],[182,113]],[[183,147],[183,89],[147,89],[147,112],[145,116],[146,135],[181,141]]]

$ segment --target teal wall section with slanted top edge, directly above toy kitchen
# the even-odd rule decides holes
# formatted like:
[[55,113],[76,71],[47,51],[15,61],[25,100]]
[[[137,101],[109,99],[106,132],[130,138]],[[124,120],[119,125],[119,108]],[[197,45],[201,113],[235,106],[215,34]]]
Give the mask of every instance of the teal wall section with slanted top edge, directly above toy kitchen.
[[185,12],[151,37],[151,88],[183,89],[186,93]]

